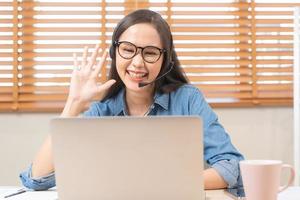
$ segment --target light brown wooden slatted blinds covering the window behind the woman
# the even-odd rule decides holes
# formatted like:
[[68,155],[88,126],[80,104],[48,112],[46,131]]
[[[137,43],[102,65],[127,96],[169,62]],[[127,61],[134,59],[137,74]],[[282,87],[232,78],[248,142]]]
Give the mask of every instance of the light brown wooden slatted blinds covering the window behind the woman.
[[291,105],[294,2],[0,0],[0,111],[61,111],[72,53],[108,47],[138,8],[168,21],[184,71],[214,106]]

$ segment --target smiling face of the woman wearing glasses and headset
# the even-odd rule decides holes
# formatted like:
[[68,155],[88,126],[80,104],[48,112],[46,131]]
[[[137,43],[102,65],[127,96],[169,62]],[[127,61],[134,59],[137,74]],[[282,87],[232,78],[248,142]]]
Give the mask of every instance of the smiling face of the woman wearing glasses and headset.
[[148,61],[151,61],[151,59],[152,61],[156,60],[155,57],[157,56],[157,53],[159,53],[156,48],[145,49],[143,56],[141,49],[138,48],[137,54],[133,58],[128,59],[128,57],[131,57],[130,55],[132,55],[135,50],[133,45],[136,47],[152,46],[163,49],[156,29],[151,24],[135,24],[124,31],[118,41],[124,43],[119,45],[119,47],[116,47],[116,66],[117,72],[126,86],[126,90],[136,92],[140,92],[142,90],[152,91],[151,89],[154,88],[154,84],[141,88],[138,87],[138,84],[141,82],[151,82],[155,80],[162,66],[163,54],[161,54],[159,59],[153,63],[146,62],[143,59],[143,56]]

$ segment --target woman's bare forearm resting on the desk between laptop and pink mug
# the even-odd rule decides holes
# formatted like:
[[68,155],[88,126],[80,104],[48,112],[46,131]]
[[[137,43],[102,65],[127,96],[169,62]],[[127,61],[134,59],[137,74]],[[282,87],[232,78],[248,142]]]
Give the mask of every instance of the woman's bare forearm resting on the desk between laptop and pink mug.
[[214,168],[204,170],[204,188],[206,190],[226,187],[227,183]]

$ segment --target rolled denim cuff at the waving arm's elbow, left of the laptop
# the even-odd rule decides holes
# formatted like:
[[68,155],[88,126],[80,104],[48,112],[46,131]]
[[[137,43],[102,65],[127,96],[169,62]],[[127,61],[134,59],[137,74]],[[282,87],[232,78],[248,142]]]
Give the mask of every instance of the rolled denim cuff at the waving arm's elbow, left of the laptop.
[[55,186],[55,175],[54,172],[47,176],[32,178],[31,176],[31,165],[30,167],[20,174],[22,184],[33,190],[47,190]]

